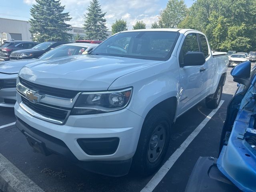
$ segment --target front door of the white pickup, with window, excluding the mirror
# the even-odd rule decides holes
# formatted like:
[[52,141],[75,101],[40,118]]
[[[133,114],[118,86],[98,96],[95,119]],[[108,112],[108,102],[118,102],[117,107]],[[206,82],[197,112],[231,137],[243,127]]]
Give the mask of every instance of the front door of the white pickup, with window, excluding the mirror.
[[187,52],[199,52],[199,42],[196,33],[185,34],[186,37],[177,52],[177,59],[180,64],[180,92],[179,92],[179,113],[182,114],[194,106],[204,96],[202,95],[203,84],[206,78],[204,65],[182,66],[184,56]]

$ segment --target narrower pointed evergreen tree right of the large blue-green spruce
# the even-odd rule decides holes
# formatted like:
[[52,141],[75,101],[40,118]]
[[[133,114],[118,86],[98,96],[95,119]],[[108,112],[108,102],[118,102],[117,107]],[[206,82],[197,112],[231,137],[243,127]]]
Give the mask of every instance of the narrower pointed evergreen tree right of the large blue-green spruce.
[[106,12],[102,12],[98,0],[92,0],[87,8],[88,12],[84,15],[84,30],[86,38],[89,40],[105,40],[108,37]]

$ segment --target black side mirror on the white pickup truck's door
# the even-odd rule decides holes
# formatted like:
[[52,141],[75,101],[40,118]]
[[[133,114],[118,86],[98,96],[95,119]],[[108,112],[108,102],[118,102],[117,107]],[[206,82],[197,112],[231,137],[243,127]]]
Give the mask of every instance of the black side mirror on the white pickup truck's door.
[[205,63],[205,56],[202,52],[187,52],[184,57],[183,66],[199,66]]

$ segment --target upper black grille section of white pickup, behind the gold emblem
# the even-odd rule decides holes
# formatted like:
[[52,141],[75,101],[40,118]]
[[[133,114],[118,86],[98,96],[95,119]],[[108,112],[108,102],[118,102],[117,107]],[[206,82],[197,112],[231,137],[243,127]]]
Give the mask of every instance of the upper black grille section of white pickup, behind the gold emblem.
[[53,88],[53,87],[35,84],[27,80],[24,80],[22,78],[20,78],[20,83],[31,90],[38,91],[39,94],[41,95],[46,94],[46,95],[71,99],[71,98],[74,98],[79,93],[79,91],[65,90],[65,89]]

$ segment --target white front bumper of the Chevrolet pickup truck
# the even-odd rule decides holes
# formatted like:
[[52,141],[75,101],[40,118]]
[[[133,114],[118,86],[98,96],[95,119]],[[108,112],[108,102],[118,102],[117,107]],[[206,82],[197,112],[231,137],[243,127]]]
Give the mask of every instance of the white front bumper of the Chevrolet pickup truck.
[[[64,125],[56,125],[34,118],[24,111],[17,102],[14,111],[18,121],[24,122],[36,130],[32,135],[34,138],[40,140],[40,135],[37,134],[39,131],[63,142],[67,150],[70,150],[74,158],[79,162],[104,161],[107,164],[120,161],[130,162],[136,151],[140,130],[144,121],[142,117],[128,109],[105,114],[69,116]],[[17,127],[20,130],[25,130],[28,126],[24,128],[24,126],[20,126],[17,123]],[[79,138],[113,137],[119,138],[120,142],[116,152],[108,155],[88,155],[77,142]],[[51,151],[66,156],[66,152],[58,150],[56,147],[48,147],[50,144],[47,141],[42,142]]]

